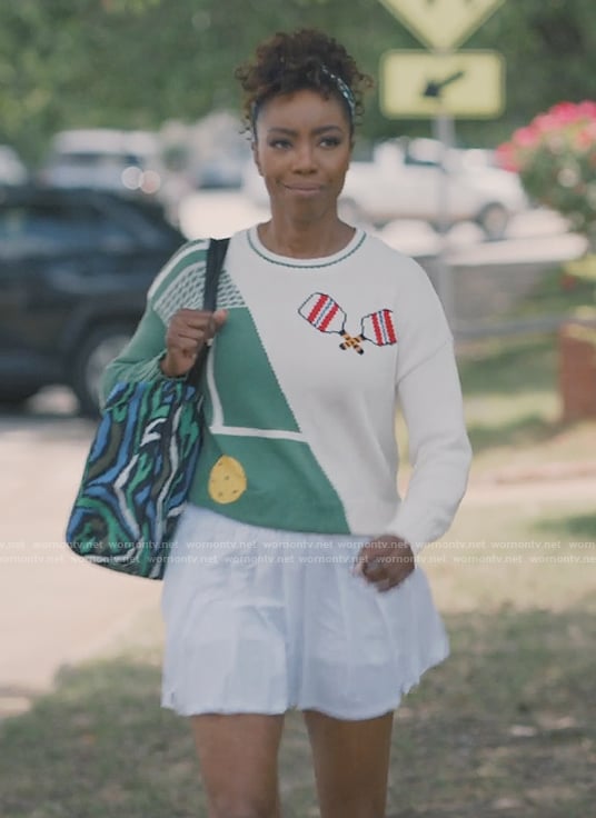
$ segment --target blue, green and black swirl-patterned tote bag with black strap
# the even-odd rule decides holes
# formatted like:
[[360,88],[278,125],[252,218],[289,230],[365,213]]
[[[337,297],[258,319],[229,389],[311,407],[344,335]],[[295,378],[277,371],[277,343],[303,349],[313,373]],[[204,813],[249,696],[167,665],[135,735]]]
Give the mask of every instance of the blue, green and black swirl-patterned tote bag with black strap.
[[[211,239],[203,308],[216,307],[227,239]],[[161,579],[200,447],[199,380],[120,382],[106,401],[67,527],[67,542],[106,568]]]

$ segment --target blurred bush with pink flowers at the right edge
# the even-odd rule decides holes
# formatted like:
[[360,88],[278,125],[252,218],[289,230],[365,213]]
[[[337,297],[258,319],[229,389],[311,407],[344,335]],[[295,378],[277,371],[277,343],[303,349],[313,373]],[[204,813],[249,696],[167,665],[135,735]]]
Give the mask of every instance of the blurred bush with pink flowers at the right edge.
[[559,102],[497,148],[528,196],[569,219],[596,250],[596,102]]

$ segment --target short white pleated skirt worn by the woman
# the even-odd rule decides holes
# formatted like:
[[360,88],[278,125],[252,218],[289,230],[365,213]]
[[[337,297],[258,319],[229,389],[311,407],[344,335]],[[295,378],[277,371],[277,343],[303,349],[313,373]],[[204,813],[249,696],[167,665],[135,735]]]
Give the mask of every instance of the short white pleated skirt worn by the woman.
[[259,528],[188,506],[163,581],[162,700],[183,716],[367,719],[449,652],[426,576],[354,576],[369,538]]

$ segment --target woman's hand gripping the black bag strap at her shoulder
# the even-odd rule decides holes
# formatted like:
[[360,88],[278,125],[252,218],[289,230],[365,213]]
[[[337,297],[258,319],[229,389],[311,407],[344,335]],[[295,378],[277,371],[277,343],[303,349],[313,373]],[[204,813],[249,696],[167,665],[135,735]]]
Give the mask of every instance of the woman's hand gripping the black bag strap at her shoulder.
[[166,356],[161,360],[161,371],[167,378],[186,375],[197,360],[205,343],[209,343],[225,323],[226,310],[206,312],[205,310],[178,310],[166,333]]

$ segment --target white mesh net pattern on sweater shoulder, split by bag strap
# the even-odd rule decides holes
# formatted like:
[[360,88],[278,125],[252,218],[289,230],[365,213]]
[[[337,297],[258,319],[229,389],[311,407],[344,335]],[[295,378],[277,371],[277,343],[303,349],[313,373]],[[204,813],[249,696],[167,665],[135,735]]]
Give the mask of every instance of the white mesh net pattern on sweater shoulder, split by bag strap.
[[[205,262],[189,265],[181,270],[158,299],[153,309],[167,326],[180,309],[200,310],[205,292]],[[245,301],[229,273],[222,270],[217,290],[217,306],[221,309],[245,307]]]

